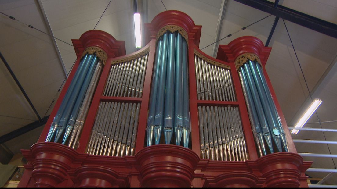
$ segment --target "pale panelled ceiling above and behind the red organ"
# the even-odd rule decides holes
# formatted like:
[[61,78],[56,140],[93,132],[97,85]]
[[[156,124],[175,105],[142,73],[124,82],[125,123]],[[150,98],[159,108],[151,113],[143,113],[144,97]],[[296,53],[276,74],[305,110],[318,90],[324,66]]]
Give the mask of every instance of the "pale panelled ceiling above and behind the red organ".
[[[245,5],[247,3],[244,4],[241,0],[224,2],[225,6],[221,6],[222,0],[139,0],[137,4],[143,13],[144,23],[151,22],[154,16],[166,9],[188,14],[196,25],[202,26],[199,48],[213,56],[216,46],[210,44],[271,14],[261,10],[261,7],[259,10],[258,7]],[[329,26],[334,27],[336,31],[335,0],[276,2],[279,6],[316,18],[315,22],[329,22]],[[76,60],[71,39],[79,39],[88,30],[102,30],[117,40],[125,41],[127,54],[136,51],[134,7],[131,0],[1,0],[0,11],[0,52],[36,109],[34,112],[5,64],[1,62],[0,137],[6,134],[8,137],[12,131],[20,130],[24,126],[28,130],[30,127],[37,127],[28,132],[21,130],[24,134],[11,137],[13,139],[2,143],[2,148],[7,148],[15,154],[19,153],[20,149],[29,149],[37,141],[44,127],[39,123],[48,118],[55,105],[52,102],[58,98],[58,90],[62,89],[63,81]],[[15,20],[7,15],[15,17]],[[235,38],[247,35],[255,36],[266,43],[275,18],[275,15],[268,16],[245,30],[226,37],[218,44],[228,44]],[[323,103],[304,127],[336,128],[337,39],[288,20],[284,19],[283,22],[280,16],[275,25],[268,44],[272,51],[266,64],[287,124],[293,126],[310,104],[310,91],[312,98],[320,98]],[[335,132],[302,130],[293,135],[293,139],[336,141],[336,136]],[[296,143],[296,148],[298,152],[303,153],[337,154],[335,144]],[[337,163],[337,158],[304,159],[313,161],[312,167],[316,168],[333,169]],[[307,174],[313,178],[324,178],[329,172]],[[337,184],[335,178],[331,177],[326,183]]]

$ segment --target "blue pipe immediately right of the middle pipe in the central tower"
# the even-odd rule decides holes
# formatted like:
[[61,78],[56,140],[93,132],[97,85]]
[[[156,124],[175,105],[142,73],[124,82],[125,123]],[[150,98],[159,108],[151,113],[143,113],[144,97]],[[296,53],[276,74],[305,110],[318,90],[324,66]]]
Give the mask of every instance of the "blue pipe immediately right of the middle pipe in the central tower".
[[[174,34],[175,35],[175,34]],[[176,38],[176,58],[175,58],[175,81],[174,81],[174,132],[176,144],[180,146],[183,134],[183,44],[182,36],[178,33]],[[167,91],[167,90],[166,90]],[[170,139],[171,140],[171,139]]]

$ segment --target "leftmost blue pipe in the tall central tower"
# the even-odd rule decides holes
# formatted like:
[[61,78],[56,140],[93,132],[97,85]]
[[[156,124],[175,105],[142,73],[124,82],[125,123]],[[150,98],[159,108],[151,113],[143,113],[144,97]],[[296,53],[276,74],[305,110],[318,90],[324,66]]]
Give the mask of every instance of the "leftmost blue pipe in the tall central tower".
[[149,109],[149,117],[147,120],[147,146],[152,145],[153,141],[153,130],[154,130],[154,117],[155,117],[155,111],[156,111],[156,98],[157,98],[157,92],[158,92],[158,83],[159,83],[159,71],[160,71],[160,60],[161,60],[161,54],[162,54],[162,43],[163,39],[159,39],[156,49],[156,60],[155,60],[155,66],[153,71],[153,79],[152,79],[152,90],[151,90],[151,99],[150,99],[150,109]]

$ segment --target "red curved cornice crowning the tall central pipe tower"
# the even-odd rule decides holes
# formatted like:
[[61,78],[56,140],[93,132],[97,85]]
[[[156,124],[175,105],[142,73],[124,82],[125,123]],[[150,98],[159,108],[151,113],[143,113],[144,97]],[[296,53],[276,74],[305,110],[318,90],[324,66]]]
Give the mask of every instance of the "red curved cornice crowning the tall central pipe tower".
[[195,25],[192,18],[178,10],[167,10],[155,16],[150,24],[145,24],[145,43],[155,39],[157,32],[164,26],[176,25],[183,28],[190,40],[199,46],[201,26]]

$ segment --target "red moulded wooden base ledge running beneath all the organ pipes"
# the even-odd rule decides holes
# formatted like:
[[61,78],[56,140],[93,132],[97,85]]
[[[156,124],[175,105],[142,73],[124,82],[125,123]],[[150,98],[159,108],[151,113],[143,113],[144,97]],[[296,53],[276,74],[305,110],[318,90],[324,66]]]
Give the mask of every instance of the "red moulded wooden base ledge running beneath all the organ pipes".
[[303,187],[312,163],[290,152],[256,161],[212,161],[176,145],[153,145],[125,157],[89,155],[44,142],[22,152],[29,161],[25,175],[32,178],[30,184],[21,183],[25,187],[191,187],[198,179],[203,184],[194,187]]

